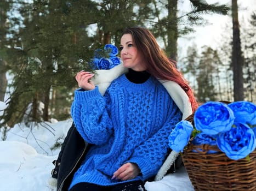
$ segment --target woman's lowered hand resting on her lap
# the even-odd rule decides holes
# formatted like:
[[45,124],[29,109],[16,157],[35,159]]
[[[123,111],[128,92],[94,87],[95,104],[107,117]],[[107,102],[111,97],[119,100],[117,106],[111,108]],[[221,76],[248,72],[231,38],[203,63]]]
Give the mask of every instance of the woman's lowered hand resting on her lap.
[[117,180],[130,180],[135,178],[140,174],[140,169],[138,165],[134,163],[123,164],[117,171],[114,172],[112,179],[116,178]]

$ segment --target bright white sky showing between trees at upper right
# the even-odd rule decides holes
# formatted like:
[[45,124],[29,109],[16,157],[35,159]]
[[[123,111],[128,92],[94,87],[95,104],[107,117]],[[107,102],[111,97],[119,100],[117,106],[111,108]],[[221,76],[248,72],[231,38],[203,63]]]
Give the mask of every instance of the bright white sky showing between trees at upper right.
[[[189,7],[189,1],[181,1],[180,8]],[[231,5],[231,0],[206,0],[208,4],[219,3]],[[256,0],[238,0],[238,17],[240,25],[247,22],[252,11],[256,11]],[[182,6],[182,7],[181,7]],[[231,12],[230,12],[231,13]],[[202,27],[195,27],[195,32],[187,35],[186,37],[178,39],[178,54],[179,58],[182,58],[186,54],[188,46],[196,45],[200,51],[202,46],[211,46],[216,49],[221,43],[223,33],[230,33],[232,31],[226,31],[226,23],[232,22],[230,15],[219,14],[206,14],[203,16],[209,22],[209,25]]]

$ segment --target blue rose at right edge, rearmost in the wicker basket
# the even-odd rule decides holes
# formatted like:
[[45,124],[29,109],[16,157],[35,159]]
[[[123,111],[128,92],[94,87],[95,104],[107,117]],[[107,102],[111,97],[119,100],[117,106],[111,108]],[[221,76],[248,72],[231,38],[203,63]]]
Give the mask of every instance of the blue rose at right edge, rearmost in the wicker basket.
[[229,108],[234,112],[235,122],[247,123],[249,125],[256,124],[256,105],[251,102],[240,101],[228,104]]

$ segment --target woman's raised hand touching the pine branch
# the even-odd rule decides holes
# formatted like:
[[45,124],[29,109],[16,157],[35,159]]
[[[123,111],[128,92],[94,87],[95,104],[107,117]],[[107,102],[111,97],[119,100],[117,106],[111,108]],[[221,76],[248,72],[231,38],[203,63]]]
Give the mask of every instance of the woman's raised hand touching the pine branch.
[[89,71],[79,71],[76,75],[76,81],[78,86],[85,89],[85,90],[92,90],[95,88],[94,83],[90,80],[94,74],[90,73]]

